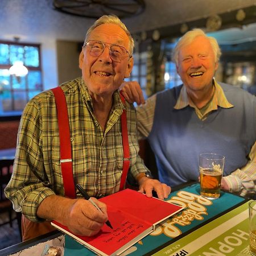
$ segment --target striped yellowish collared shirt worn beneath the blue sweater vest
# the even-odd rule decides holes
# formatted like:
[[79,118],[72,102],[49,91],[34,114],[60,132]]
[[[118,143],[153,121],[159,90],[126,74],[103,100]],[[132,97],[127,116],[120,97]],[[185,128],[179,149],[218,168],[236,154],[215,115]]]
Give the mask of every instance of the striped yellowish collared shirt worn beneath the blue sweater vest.
[[[214,81],[214,94],[212,100],[208,103],[207,109],[204,113],[200,112],[200,109],[191,101],[188,97],[185,86],[180,90],[178,100],[174,106],[175,109],[183,109],[187,106],[195,109],[197,117],[204,120],[208,115],[220,106],[221,108],[233,108],[233,105],[227,100],[224,91],[221,86]],[[137,119],[138,119],[138,138],[147,138],[154,122],[156,104],[156,94],[147,99],[146,104],[137,107]],[[241,195],[246,195],[246,193],[254,192],[256,190],[254,180],[256,180],[256,142],[251,148],[249,159],[246,166],[243,166],[237,170],[234,170],[232,174],[225,176],[224,180],[228,184],[230,192],[240,192]]]

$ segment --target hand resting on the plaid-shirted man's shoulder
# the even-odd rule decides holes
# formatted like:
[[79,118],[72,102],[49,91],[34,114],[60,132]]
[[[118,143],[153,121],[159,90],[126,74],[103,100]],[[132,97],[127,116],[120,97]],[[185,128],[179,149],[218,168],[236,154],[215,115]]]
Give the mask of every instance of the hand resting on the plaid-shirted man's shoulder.
[[137,81],[123,82],[119,90],[129,103],[136,102],[138,105],[145,103],[141,86]]

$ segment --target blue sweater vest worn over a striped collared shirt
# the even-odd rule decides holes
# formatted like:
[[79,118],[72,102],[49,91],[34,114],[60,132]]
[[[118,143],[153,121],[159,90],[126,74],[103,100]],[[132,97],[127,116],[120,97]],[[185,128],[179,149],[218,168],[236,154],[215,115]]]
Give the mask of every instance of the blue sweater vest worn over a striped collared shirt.
[[198,180],[199,154],[204,152],[225,156],[224,176],[247,163],[256,138],[256,97],[232,85],[220,85],[234,107],[218,107],[204,121],[190,106],[174,109],[181,85],[157,94],[148,141],[161,182],[173,186]]

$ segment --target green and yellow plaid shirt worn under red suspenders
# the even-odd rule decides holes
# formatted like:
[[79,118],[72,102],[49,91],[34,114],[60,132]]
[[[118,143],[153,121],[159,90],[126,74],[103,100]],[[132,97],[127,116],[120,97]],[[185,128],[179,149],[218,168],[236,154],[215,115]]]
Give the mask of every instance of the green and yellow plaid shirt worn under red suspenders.
[[[136,116],[133,105],[124,105],[116,91],[105,130],[93,114],[92,98],[84,80],[61,85],[67,101],[71,130],[73,178],[90,196],[117,192],[123,168],[121,114],[126,109],[133,176],[147,169],[137,158]],[[39,221],[38,205],[49,195],[64,195],[60,168],[59,128],[51,90],[28,102],[20,121],[14,172],[6,196],[14,209]],[[78,191],[76,191],[79,194]],[[80,196],[80,194],[78,195]]]

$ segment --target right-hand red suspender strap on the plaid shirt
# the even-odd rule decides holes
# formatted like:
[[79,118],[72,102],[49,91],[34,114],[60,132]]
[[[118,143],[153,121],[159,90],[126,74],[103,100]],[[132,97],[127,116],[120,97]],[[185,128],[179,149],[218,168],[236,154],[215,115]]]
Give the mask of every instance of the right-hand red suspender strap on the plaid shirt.
[[[125,104],[125,98],[120,93],[121,100],[123,104]],[[122,126],[122,141],[123,141],[123,171],[121,176],[121,182],[119,191],[125,188],[125,182],[127,173],[130,167],[130,149],[129,149],[129,139],[128,139],[128,131],[127,131],[127,118],[126,118],[126,111],[123,110],[121,115],[121,126]]]

